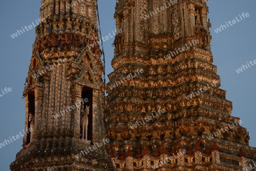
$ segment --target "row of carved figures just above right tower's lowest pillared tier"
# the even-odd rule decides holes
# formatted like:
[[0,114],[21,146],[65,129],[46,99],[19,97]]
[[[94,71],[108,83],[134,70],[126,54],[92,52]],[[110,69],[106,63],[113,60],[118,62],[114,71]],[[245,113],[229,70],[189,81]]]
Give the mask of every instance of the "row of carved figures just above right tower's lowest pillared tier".
[[[134,126],[134,124],[133,124]],[[132,126],[130,126],[131,128]],[[241,144],[249,145],[249,132],[246,132],[246,129],[238,126],[238,124],[230,123],[228,125],[221,124],[216,121],[213,124],[209,124],[208,122],[194,122],[192,119],[187,120],[187,122],[180,121],[172,124],[169,130],[164,130],[166,126],[160,126],[159,124],[154,124],[154,126],[144,126],[138,124],[138,130],[131,130],[126,127],[116,127],[110,128],[109,138],[110,140],[120,141],[120,140],[151,140],[151,139],[159,139],[163,140],[165,138],[180,138],[181,136],[202,136],[205,135],[207,140],[212,140],[214,138],[225,139],[229,141],[234,141]],[[137,128],[136,127],[136,128]],[[126,129],[125,129],[126,128]],[[133,127],[135,128],[135,127]],[[225,128],[225,131],[223,129]],[[124,130],[124,132],[119,132]],[[150,129],[151,131],[147,131]],[[156,130],[162,131],[156,131]],[[115,131],[114,131],[115,130]],[[119,131],[117,131],[119,130]],[[142,136],[142,133],[144,136]]]

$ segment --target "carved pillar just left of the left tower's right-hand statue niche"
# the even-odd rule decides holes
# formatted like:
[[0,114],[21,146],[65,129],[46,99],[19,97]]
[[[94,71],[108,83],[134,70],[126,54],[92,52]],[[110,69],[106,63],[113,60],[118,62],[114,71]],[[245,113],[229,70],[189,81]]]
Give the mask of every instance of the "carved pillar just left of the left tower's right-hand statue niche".
[[76,106],[75,110],[72,110],[72,134],[74,137],[80,138],[80,109],[81,109],[81,93],[82,86],[75,84],[72,87],[72,105]]

